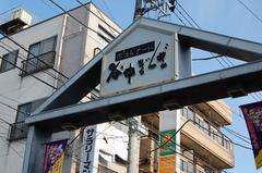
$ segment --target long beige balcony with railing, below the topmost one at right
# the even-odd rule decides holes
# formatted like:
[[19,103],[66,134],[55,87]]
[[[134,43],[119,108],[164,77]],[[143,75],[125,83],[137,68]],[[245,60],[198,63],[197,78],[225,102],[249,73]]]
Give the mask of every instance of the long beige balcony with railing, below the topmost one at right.
[[234,166],[234,146],[231,140],[212,125],[200,121],[195,113],[183,109],[181,124],[187,123],[181,129],[181,144],[193,149],[201,158],[205,158],[217,169]]

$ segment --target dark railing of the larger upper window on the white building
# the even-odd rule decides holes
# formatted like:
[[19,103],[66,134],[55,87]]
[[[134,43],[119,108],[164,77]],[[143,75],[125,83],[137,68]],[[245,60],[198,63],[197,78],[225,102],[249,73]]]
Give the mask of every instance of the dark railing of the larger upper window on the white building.
[[56,52],[49,51],[35,58],[22,61],[23,71],[21,71],[20,76],[23,77],[26,75],[31,75],[33,73],[37,73],[53,67]]

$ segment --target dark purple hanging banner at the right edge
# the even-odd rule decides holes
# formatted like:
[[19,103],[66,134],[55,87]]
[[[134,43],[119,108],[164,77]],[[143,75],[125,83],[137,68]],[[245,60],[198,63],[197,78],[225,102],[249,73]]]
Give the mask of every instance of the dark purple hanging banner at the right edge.
[[251,139],[257,169],[262,166],[262,101],[240,106]]

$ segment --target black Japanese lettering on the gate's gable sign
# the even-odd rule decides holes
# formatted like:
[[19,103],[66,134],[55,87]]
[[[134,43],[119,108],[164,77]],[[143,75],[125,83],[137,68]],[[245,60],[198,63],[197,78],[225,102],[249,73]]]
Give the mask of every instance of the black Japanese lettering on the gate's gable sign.
[[[118,81],[118,78],[123,75],[124,78],[128,79],[128,84],[132,83],[132,77],[135,75],[144,75],[146,70],[152,71],[159,66],[159,69],[166,69],[166,51],[168,50],[168,44],[164,44],[164,50],[159,51],[159,47],[162,41],[157,44],[155,49],[155,41],[151,41],[147,44],[143,44],[133,48],[129,48],[126,50],[121,50],[116,52],[116,61],[108,65],[108,70],[110,71],[107,76],[106,82],[110,83],[111,81]],[[152,57],[145,57],[144,59],[139,59],[134,63],[129,63],[128,66],[121,65],[120,60],[124,60],[131,57],[135,57],[139,54],[147,53],[154,51]],[[158,51],[158,53],[156,53]],[[157,55],[156,55],[157,54]],[[138,67],[138,70],[135,69]],[[136,72],[138,71],[138,72]]]

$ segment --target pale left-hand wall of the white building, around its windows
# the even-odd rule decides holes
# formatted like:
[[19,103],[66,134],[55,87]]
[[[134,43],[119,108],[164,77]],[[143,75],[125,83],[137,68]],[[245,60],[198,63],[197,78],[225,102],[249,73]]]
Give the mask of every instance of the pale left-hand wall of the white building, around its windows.
[[[29,27],[21,33],[14,34],[11,38],[21,44],[25,49],[28,49],[29,45],[57,35],[58,37],[56,51],[58,52],[60,46],[59,40],[61,38],[62,22],[63,17],[58,16],[53,20],[47,21],[34,27]],[[23,54],[25,58],[27,57],[27,52],[23,51],[21,48],[19,48],[8,39],[2,39],[1,41],[9,45],[14,50],[19,49],[19,53]],[[7,53],[7,51],[0,48],[0,54],[4,53]],[[16,65],[21,66],[21,59],[19,58]],[[48,70],[47,72],[53,73],[51,70]],[[19,104],[50,96],[55,91],[51,87],[40,83],[32,76],[21,77],[19,74],[20,70],[17,69],[13,69],[0,74],[0,100],[15,109],[17,109]],[[50,85],[55,85],[55,79],[45,73],[36,73],[34,75]],[[0,116],[2,119],[10,123],[15,122],[15,110],[12,110],[3,104],[0,104]],[[9,125],[1,123],[0,132],[3,133],[1,134],[3,137],[1,137],[0,140],[0,172],[19,173],[22,170],[26,141],[8,141],[8,129]]]

